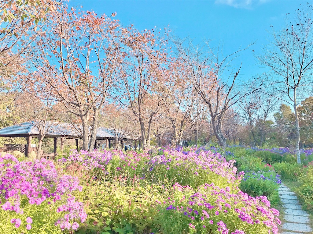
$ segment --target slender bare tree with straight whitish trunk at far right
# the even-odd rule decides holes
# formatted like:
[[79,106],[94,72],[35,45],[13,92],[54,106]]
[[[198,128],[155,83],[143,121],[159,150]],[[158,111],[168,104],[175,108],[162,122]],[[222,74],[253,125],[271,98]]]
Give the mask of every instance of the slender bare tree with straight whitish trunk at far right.
[[[297,106],[304,100],[305,88],[311,87],[313,68],[313,31],[312,5],[298,9],[294,23],[288,23],[280,32],[273,29],[273,41],[264,49],[264,56],[259,60],[270,67],[277,76],[272,86],[279,93],[285,94],[282,100],[290,104],[295,113],[296,154],[300,160],[300,127]],[[300,91],[301,90],[301,91]],[[301,96],[302,93],[302,96]]]

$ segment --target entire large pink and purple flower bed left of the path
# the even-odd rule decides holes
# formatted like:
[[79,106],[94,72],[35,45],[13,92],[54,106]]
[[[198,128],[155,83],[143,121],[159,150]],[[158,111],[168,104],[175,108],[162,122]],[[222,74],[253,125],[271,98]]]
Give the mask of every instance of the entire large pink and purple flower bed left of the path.
[[239,190],[235,161],[207,149],[0,162],[1,233],[276,234],[280,223],[266,197]]

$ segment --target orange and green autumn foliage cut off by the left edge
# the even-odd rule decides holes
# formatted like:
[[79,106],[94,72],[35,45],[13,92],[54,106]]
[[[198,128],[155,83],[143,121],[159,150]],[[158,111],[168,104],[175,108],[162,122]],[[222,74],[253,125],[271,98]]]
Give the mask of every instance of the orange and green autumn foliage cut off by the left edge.
[[[0,1],[0,115],[7,119],[21,92],[16,75],[25,73],[33,41],[57,8],[54,0]],[[10,93],[8,93],[10,92]]]

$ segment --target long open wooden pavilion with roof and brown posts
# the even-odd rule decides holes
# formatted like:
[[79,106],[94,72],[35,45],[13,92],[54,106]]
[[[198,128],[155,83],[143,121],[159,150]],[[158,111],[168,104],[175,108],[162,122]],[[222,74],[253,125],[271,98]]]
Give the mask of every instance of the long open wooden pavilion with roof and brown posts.
[[[48,125],[48,124],[47,124]],[[49,123],[51,126],[51,123]],[[82,136],[79,132],[79,126],[76,124],[68,123],[55,123],[52,125],[51,130],[47,132],[45,138],[54,138],[54,154],[57,153],[57,139],[61,139],[61,151],[64,150],[64,140],[65,139],[76,139],[76,149],[78,150],[78,140],[82,139]],[[27,139],[25,155],[28,155],[31,152],[31,142],[33,137],[39,137],[38,128],[35,126],[34,122],[25,122],[22,124],[15,124],[13,126],[5,127],[0,129],[0,137],[23,137]],[[97,140],[105,140],[105,148],[111,148],[111,140],[115,140],[115,136],[112,134],[111,129],[105,127],[98,127],[96,134]],[[134,138],[127,136],[121,139],[122,149],[124,148],[125,140],[135,140]],[[96,141],[95,146],[96,148]],[[48,157],[51,155],[43,155],[43,157]]]

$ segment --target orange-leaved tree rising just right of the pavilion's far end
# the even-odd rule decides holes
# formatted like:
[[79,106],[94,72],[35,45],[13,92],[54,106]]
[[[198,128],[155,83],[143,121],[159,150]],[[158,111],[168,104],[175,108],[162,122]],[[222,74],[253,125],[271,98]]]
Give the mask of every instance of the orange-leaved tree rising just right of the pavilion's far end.
[[175,86],[174,63],[168,55],[167,32],[152,29],[123,30],[121,79],[117,100],[130,108],[140,124],[142,148],[150,148],[152,123]]

